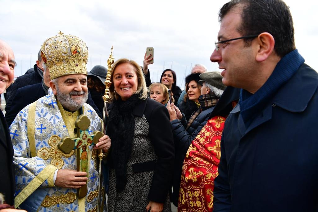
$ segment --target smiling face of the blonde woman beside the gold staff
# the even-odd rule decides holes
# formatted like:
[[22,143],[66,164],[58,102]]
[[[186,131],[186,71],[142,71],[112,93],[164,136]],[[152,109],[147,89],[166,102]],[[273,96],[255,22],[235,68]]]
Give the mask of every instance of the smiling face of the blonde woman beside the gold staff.
[[138,77],[133,65],[123,63],[117,65],[113,74],[114,90],[121,100],[129,99],[138,88]]

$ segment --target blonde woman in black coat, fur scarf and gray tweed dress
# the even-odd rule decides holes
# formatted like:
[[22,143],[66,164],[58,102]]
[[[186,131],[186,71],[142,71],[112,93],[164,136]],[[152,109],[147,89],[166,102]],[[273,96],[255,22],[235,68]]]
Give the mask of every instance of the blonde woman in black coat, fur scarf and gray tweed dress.
[[168,110],[148,98],[135,61],[117,60],[111,82],[108,211],[171,212],[168,193],[175,153]]

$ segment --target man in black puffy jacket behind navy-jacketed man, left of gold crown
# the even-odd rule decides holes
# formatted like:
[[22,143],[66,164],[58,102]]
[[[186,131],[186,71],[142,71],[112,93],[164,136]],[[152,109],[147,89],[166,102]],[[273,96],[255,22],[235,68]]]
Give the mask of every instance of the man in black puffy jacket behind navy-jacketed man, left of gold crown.
[[8,113],[11,110],[12,100],[16,95],[16,92],[19,88],[22,88],[26,85],[34,85],[40,83],[43,79],[43,62],[41,58],[40,51],[38,52],[37,63],[33,67],[34,72],[28,70],[28,74],[24,74],[18,77],[14,83],[10,86],[10,90],[7,91],[7,101],[5,105],[5,112]]

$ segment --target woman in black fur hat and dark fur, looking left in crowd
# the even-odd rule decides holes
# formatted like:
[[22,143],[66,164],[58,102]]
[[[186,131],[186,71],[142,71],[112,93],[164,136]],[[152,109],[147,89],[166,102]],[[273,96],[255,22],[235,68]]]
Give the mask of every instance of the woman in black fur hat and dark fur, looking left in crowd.
[[185,92],[183,101],[179,104],[179,110],[184,113],[186,120],[188,121],[193,112],[199,107],[199,96],[201,95],[202,82],[199,82],[201,78],[200,73],[190,74],[185,78]]

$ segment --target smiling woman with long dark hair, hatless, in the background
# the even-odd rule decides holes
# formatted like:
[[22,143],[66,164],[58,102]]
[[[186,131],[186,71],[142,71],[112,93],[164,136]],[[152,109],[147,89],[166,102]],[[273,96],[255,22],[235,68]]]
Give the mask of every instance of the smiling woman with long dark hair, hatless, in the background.
[[175,101],[178,101],[180,94],[181,94],[181,89],[176,85],[177,83],[177,77],[176,77],[176,72],[174,72],[171,69],[166,69],[162,72],[161,77],[160,77],[160,82],[163,85],[166,85],[168,89],[171,90],[173,99]]

